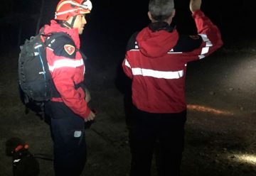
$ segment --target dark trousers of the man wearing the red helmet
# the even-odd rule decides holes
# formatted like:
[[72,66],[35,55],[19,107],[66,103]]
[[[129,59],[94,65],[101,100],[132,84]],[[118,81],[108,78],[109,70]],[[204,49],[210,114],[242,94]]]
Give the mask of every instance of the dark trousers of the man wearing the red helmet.
[[48,102],[56,176],[78,176],[86,162],[85,121],[61,102]]

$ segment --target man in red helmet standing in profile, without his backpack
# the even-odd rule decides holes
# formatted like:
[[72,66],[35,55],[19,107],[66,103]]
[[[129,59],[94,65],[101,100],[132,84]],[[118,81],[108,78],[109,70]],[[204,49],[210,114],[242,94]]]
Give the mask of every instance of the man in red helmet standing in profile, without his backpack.
[[86,162],[85,121],[95,114],[87,106],[82,89],[85,65],[80,53],[80,38],[85,14],[90,13],[90,0],[61,0],[55,20],[43,27],[47,38],[46,57],[55,87],[53,97],[46,104],[53,138],[55,175],[80,175]]

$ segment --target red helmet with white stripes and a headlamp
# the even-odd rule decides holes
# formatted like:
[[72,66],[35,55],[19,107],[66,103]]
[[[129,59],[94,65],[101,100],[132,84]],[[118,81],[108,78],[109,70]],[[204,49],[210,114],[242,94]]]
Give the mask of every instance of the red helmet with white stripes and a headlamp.
[[55,11],[55,19],[67,21],[71,16],[90,13],[92,2],[90,0],[61,0]]

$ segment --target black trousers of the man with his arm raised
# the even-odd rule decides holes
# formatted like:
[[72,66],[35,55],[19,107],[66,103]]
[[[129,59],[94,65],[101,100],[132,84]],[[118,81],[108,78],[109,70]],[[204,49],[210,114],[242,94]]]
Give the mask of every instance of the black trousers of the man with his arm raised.
[[178,114],[151,114],[132,108],[129,131],[132,153],[131,176],[151,175],[151,160],[156,150],[156,165],[160,176],[180,175],[184,149],[186,111]]

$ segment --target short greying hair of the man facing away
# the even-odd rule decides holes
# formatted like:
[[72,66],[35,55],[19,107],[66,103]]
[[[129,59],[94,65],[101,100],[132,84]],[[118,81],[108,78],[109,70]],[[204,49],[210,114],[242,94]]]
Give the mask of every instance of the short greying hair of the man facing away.
[[156,21],[164,21],[174,11],[174,0],[149,0],[149,12]]

